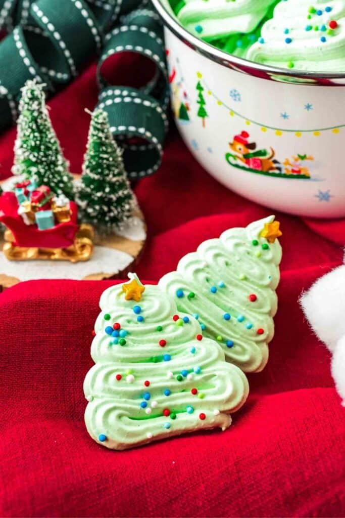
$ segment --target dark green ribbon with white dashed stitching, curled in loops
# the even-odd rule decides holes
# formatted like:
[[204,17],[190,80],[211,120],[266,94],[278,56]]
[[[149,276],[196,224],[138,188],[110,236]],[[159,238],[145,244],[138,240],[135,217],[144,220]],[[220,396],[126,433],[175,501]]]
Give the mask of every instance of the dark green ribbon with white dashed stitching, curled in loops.
[[[141,178],[157,170],[168,127],[163,35],[156,13],[136,7],[138,0],[0,0],[0,27],[19,24],[0,42],[0,129],[16,119],[27,79],[36,78],[53,92],[99,53],[98,107],[108,112],[113,135],[124,148],[128,175]],[[155,64],[154,77],[140,90],[113,87],[102,76],[104,62],[121,52],[138,53]]]

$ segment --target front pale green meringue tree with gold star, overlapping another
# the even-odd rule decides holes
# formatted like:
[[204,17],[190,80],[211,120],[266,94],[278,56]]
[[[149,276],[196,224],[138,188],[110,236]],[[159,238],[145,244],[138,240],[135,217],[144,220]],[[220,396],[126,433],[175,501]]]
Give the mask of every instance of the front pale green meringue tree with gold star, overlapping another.
[[177,312],[158,286],[131,281],[103,292],[84,381],[85,423],[107,448],[125,450],[231,424],[248,395],[243,372],[224,361],[197,319]]

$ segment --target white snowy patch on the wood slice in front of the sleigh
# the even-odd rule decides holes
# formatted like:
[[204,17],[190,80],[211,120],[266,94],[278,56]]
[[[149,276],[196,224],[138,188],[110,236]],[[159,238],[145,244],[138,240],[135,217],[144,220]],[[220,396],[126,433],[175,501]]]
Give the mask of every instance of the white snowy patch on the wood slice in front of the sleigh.
[[69,261],[9,261],[0,252],[0,272],[21,281],[34,279],[77,279],[100,272],[105,276],[116,275],[127,268],[133,257],[126,252],[106,247],[95,247],[92,257],[86,262]]

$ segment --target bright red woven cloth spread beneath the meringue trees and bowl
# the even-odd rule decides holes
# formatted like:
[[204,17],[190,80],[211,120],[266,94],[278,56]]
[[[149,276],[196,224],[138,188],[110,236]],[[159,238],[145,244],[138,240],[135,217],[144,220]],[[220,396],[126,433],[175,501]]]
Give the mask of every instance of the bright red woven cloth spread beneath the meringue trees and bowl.
[[[79,172],[96,102],[94,67],[50,103]],[[0,139],[8,176],[14,131]],[[277,181],[279,188],[279,181]],[[137,267],[157,281],[226,228],[271,211],[217,183],[177,135],[136,193],[149,228]],[[344,516],[344,418],[329,354],[298,297],[342,261],[345,222],[277,214],[284,250],[276,335],[263,372],[225,432],[112,452],[87,434],[83,379],[101,292],[111,282],[26,282],[0,295],[2,516]],[[306,224],[307,223],[307,224]]]

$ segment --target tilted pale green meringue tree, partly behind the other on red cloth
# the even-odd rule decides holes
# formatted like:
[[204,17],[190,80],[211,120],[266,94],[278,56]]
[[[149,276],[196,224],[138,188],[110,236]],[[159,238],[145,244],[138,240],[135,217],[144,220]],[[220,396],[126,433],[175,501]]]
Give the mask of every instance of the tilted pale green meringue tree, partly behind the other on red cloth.
[[220,344],[228,362],[258,372],[274,336],[281,246],[274,216],[230,228],[182,257],[158,285],[178,311],[193,314],[203,335]]

